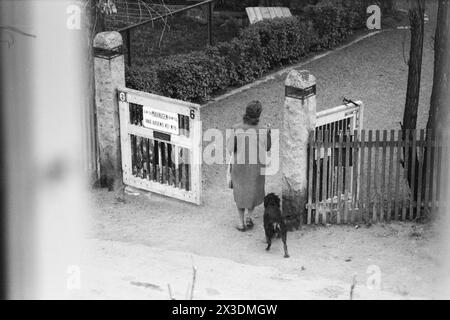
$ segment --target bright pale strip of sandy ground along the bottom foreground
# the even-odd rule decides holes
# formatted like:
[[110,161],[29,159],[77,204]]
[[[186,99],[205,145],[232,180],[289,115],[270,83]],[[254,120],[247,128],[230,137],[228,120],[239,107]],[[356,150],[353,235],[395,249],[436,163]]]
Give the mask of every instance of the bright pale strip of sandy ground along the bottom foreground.
[[[197,268],[194,299],[349,299],[350,285],[339,279],[305,277],[232,260],[162,250],[117,241],[92,240],[81,265],[81,291],[74,298],[185,299]],[[356,283],[354,299],[403,299]],[[411,297],[410,297],[411,298]]]

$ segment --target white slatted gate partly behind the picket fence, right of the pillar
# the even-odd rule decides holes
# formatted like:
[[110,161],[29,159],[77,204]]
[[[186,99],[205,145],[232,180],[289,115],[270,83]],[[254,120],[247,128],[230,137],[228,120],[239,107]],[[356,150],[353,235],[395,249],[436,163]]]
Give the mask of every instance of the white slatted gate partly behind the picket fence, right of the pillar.
[[[337,150],[337,146],[342,146],[347,140],[350,143],[354,132],[362,129],[363,110],[363,103],[357,101],[316,114],[316,128],[310,141],[323,141],[327,147],[319,148],[310,143],[308,148],[308,223],[312,220],[312,210],[318,223],[319,216],[326,215],[324,210],[332,208],[334,203],[359,197],[359,179],[352,170],[353,153]],[[340,166],[342,163],[348,163],[348,166]],[[347,195],[344,190],[347,190]]]

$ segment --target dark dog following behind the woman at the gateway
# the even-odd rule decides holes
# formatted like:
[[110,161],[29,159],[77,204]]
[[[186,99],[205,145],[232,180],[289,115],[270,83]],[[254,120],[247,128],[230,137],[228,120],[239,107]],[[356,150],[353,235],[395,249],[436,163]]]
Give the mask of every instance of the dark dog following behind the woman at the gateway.
[[267,248],[272,245],[272,238],[275,234],[281,236],[284,245],[284,257],[289,258],[286,245],[286,222],[281,216],[280,197],[274,193],[269,193],[264,197],[264,231],[266,232]]

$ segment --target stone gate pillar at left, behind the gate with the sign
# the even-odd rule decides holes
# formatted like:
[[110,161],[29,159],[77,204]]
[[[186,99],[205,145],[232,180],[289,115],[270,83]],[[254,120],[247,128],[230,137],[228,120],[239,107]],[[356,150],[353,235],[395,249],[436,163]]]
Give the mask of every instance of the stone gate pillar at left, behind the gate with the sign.
[[117,88],[125,86],[120,33],[98,33],[94,39],[94,55],[100,183],[110,190],[118,190],[122,186],[122,161]]

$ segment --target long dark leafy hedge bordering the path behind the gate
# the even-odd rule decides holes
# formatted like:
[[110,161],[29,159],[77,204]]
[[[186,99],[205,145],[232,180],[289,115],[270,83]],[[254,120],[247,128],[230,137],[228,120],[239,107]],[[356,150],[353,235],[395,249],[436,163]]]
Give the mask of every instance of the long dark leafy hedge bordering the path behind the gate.
[[342,43],[361,24],[358,6],[321,5],[305,17],[264,20],[230,42],[172,55],[126,71],[127,86],[185,101],[202,102],[230,86],[292,64],[311,52]]

